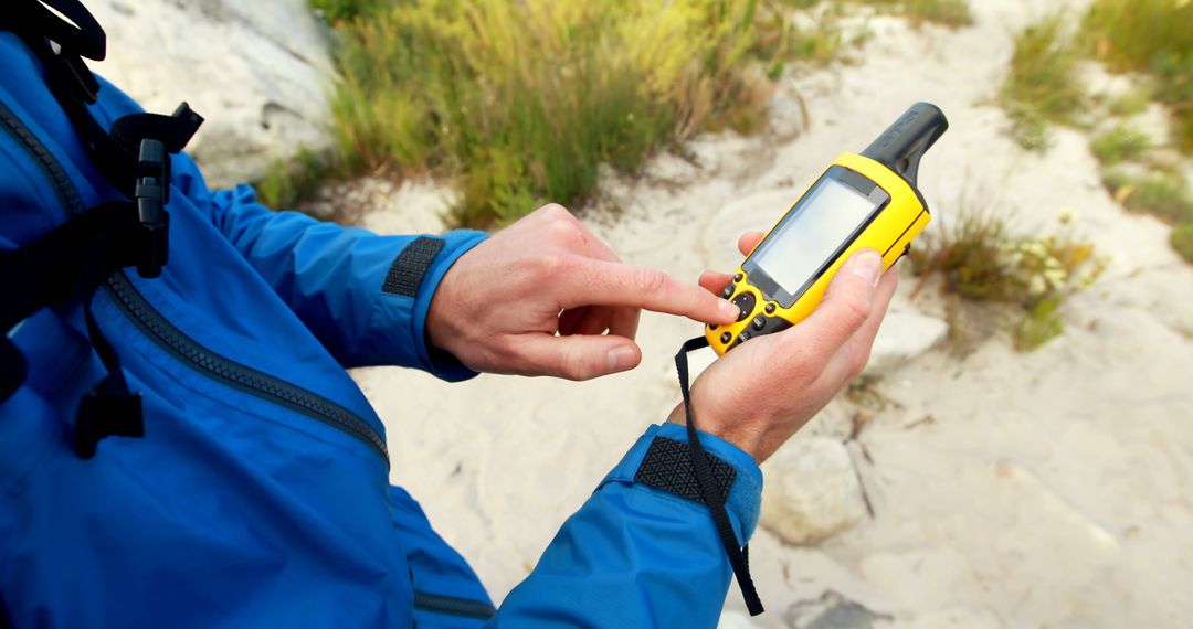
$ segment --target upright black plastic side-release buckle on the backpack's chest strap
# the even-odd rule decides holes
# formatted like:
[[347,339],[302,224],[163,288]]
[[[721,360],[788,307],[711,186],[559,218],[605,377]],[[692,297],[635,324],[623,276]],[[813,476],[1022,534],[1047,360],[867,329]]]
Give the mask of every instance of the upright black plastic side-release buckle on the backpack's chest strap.
[[156,278],[169,260],[169,213],[166,212],[166,204],[169,203],[169,154],[156,139],[141,141],[132,198],[137,203],[137,219],[144,230],[137,274],[147,279]]

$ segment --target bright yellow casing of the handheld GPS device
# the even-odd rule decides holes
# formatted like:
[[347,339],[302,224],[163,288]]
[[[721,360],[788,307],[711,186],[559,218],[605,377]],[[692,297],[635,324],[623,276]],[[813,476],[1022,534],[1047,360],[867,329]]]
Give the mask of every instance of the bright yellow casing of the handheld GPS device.
[[[812,313],[814,310],[816,310],[821,299],[823,299],[824,291],[828,288],[829,282],[833,281],[833,276],[836,275],[841,264],[859,249],[869,248],[883,254],[883,270],[890,268],[891,264],[898,261],[898,259],[908,250],[911,241],[914,241],[915,237],[923,231],[923,228],[928,224],[928,222],[932,220],[932,216],[928,213],[927,207],[925,207],[919,193],[916,193],[916,191],[902,176],[890,168],[869,157],[853,152],[841,154],[832,166],[847,168],[873,181],[890,195],[890,201],[885,205],[885,207],[879,210],[878,214],[873,218],[873,220],[871,220],[870,225],[867,225],[866,229],[853,242],[851,242],[843,251],[841,251],[841,254],[833,261],[832,266],[829,266],[829,268],[796,299],[791,307],[784,307],[783,304],[768,299],[767,295],[762,294],[762,291],[749,282],[749,276],[746,274],[746,270],[741,266],[737,267],[737,272],[734,276],[735,279],[740,279],[734,282],[733,293],[728,299],[733,300],[743,292],[750,292],[754,294],[754,309],[752,312],[744,313],[741,320],[736,323],[729,325],[705,326],[704,336],[709,340],[709,344],[713,350],[716,350],[717,354],[724,354],[737,343],[743,342],[741,334],[747,331],[755,317],[778,317],[792,325],[804,320]],[[826,169],[826,172],[827,170],[828,169]],[[816,181],[820,181],[820,179]],[[808,191],[804,191],[804,195],[806,195],[810,189],[811,186],[809,186]],[[802,199],[803,195],[801,195],[801,200]],[[799,200],[792,204],[787,212],[795,208],[798,204]],[[780,220],[775,222],[775,226],[778,226],[781,222],[783,220],[780,218]],[[771,230],[773,231],[774,226],[772,226]],[[769,235],[769,232],[767,232],[767,235]],[[747,259],[748,257],[749,256],[747,256]],[[771,310],[769,313],[766,312],[768,306]],[[729,334],[727,335],[727,332]],[[729,337],[729,342],[723,342],[723,338],[727,336]]]

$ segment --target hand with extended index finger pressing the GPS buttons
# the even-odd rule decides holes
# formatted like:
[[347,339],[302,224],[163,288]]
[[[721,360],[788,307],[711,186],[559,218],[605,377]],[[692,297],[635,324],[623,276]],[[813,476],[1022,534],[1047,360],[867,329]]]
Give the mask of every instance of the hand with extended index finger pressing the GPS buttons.
[[717,324],[738,313],[698,286],[622,263],[570,212],[548,205],[452,264],[427,334],[478,372],[587,380],[642,361],[633,342],[642,309]]

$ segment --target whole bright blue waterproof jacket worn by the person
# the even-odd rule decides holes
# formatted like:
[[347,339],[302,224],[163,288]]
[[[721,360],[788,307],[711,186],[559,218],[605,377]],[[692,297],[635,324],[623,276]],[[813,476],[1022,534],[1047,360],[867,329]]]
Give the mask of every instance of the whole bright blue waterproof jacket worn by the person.
[[[118,193],[7,32],[0,67],[0,248],[12,249]],[[92,110],[110,124],[137,106],[105,83]],[[144,396],[143,438],[109,437],[88,460],[72,451],[75,407],[104,374],[80,303],[7,331],[30,366],[0,404],[0,596],[16,627],[716,624],[724,550],[659,459],[686,441],[679,426],[647,430],[495,615],[463,558],[389,485],[382,423],[345,367],[475,375],[428,347],[424,324],[439,280],[483,233],[418,241],[272,212],[247,186],[209,191],[185,155],[171,185],[162,276],[117,273],[92,301]],[[401,268],[416,242],[433,257]],[[746,540],[761,474],[733,446],[704,444],[731,475]]]

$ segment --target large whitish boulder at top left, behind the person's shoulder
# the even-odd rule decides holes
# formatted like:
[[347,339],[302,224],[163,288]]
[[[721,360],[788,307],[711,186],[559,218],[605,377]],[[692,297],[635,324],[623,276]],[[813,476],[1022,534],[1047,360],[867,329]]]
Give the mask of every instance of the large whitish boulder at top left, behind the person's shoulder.
[[209,185],[259,179],[299,147],[329,145],[334,71],[322,26],[305,0],[97,0],[107,32],[97,74],[147,111],[183,100],[206,122],[187,145]]

